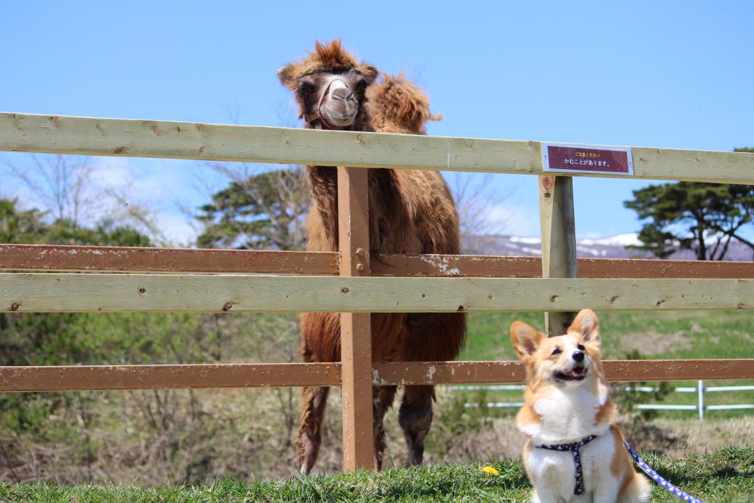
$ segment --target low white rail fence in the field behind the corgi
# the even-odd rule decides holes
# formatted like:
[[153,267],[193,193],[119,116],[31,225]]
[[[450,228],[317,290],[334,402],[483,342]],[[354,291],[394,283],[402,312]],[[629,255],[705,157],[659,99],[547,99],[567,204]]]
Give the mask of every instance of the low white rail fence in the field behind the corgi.
[[[473,385],[473,386],[446,386],[450,391],[523,391],[524,385]],[[658,388],[651,386],[627,386],[626,391],[640,391],[652,393]],[[703,381],[692,388],[680,386],[673,388],[676,393],[696,393],[698,401],[695,405],[673,405],[665,403],[638,403],[633,406],[639,410],[696,410],[699,413],[699,419],[704,419],[705,410],[734,410],[734,409],[754,409],[754,403],[729,403],[727,405],[704,405],[704,394],[716,393],[722,391],[754,391],[754,385],[750,386],[705,386]],[[472,409],[479,407],[479,403],[464,403],[464,407]],[[500,408],[518,408],[523,406],[523,402],[487,402],[487,407],[493,409]]]

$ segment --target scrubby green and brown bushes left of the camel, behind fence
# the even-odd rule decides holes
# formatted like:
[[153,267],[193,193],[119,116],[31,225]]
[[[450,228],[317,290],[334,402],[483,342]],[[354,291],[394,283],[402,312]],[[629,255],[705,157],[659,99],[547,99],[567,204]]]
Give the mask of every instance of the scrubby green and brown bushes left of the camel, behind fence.
[[[124,222],[73,225],[8,198],[0,198],[0,242],[152,244]],[[297,353],[296,321],[293,314],[0,313],[0,366],[285,361]],[[296,403],[290,391],[265,391],[264,415],[277,416],[257,427],[233,407],[259,407],[262,393],[244,393],[248,405],[174,389],[0,394],[0,479],[106,480],[133,470],[195,483],[228,474],[227,465],[245,477],[292,455]],[[207,405],[218,400],[217,411]]]

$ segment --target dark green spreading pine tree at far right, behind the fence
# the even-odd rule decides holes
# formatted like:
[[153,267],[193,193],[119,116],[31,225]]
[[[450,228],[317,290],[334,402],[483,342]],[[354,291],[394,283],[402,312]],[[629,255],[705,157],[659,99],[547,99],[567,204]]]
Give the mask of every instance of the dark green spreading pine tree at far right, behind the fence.
[[754,253],[742,232],[754,222],[754,186],[676,182],[635,190],[633,197],[624,204],[645,221],[636,249],[659,258],[693,250],[699,260],[722,260],[736,240]]

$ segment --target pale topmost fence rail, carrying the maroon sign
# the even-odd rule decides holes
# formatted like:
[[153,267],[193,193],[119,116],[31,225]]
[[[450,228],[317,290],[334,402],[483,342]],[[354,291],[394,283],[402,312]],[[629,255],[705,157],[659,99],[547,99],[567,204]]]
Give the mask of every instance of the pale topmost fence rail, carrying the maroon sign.
[[[541,143],[0,113],[0,151],[543,174]],[[633,148],[633,178],[754,183],[754,154]],[[573,173],[573,176],[609,176]]]

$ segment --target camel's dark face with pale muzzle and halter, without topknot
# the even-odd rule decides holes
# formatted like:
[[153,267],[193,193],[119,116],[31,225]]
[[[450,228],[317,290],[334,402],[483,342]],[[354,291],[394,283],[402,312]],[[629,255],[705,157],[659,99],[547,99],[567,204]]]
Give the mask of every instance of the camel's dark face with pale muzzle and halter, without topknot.
[[355,69],[344,73],[315,73],[299,78],[296,94],[302,115],[312,127],[351,127],[363,103],[366,78]]

